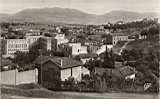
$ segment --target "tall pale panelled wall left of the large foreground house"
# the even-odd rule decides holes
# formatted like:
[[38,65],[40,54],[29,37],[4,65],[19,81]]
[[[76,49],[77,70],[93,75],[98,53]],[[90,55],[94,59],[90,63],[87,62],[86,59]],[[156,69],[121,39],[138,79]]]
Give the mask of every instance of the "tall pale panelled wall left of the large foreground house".
[[37,83],[38,81],[38,70],[28,70],[18,72],[17,69],[2,71],[1,73],[1,84],[7,85],[19,85],[25,83]]

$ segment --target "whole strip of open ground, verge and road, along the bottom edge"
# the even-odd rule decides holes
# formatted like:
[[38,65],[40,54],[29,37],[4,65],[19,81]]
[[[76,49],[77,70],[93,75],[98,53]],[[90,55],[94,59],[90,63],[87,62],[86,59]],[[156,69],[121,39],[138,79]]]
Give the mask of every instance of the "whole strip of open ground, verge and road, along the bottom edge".
[[6,86],[1,89],[2,99],[159,99],[157,94],[55,92]]

